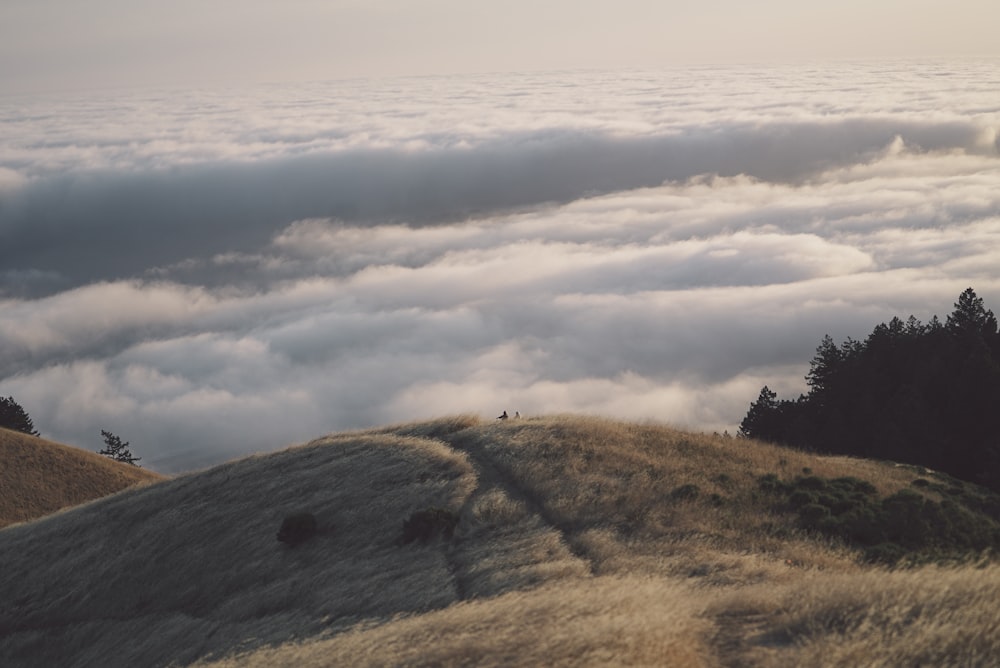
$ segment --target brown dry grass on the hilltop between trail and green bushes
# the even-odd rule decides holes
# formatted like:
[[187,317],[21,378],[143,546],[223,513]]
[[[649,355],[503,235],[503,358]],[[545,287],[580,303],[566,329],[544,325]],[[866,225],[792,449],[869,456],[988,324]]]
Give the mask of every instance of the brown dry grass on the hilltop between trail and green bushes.
[[[824,458],[661,425],[557,416],[460,432],[486,453],[597,574],[657,573],[739,584],[799,568],[851,571],[857,555],[795,528],[758,478],[863,476],[882,493],[913,474],[891,464]],[[697,496],[685,498],[685,487]]]

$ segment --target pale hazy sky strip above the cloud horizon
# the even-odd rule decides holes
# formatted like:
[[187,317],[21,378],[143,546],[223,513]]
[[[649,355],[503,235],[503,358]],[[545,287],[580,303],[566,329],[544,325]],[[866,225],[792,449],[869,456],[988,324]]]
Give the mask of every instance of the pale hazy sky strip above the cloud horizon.
[[4,0],[0,92],[1000,54],[994,0]]

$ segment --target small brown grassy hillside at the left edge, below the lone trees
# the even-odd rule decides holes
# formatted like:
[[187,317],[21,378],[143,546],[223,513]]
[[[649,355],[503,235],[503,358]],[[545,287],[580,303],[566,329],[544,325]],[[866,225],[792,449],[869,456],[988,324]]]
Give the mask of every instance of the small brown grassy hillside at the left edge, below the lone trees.
[[0,427],[0,527],[156,480],[162,476]]

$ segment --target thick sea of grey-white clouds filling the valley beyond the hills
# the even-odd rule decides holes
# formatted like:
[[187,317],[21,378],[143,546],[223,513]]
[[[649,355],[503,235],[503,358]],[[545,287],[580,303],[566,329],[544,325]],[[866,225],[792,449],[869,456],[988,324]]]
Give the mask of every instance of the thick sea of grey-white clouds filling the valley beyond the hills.
[[0,394],[190,470],[578,412],[735,431],[1000,308],[1000,62],[0,97]]

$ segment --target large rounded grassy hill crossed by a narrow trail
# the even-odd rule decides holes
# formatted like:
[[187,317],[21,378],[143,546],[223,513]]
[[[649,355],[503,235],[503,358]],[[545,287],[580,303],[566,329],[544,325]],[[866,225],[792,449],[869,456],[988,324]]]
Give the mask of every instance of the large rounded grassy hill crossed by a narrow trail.
[[335,434],[0,531],[0,663],[995,665],[993,501],[574,416]]

